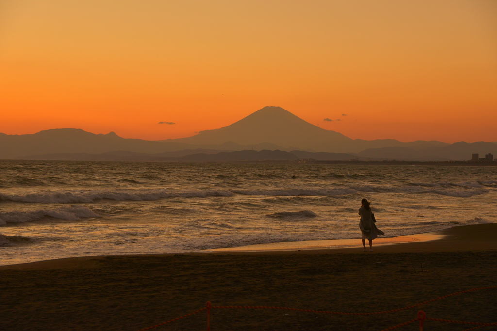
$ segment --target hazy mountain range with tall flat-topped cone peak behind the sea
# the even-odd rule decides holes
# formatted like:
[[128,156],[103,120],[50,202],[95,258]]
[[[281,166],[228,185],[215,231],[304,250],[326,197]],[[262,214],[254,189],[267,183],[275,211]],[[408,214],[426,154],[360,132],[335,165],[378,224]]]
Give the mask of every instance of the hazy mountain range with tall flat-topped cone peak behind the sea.
[[[210,155],[222,151],[242,150],[279,150],[280,152],[292,151],[292,153],[299,151],[298,155],[292,154],[298,158],[307,158],[306,152],[343,154],[320,156],[330,158],[330,160],[350,159],[352,155],[352,157],[363,159],[445,161],[468,160],[472,153],[490,152],[497,155],[497,143],[447,144],[424,140],[406,143],[395,139],[351,139],[339,132],[319,128],[275,106],[259,109],[227,127],[207,130],[191,137],[178,139],[155,141],[130,139],[122,138],[114,132],[94,134],[81,129],[52,129],[21,135],[0,133],[0,159],[47,159],[47,157],[62,159],[66,157],[69,159],[136,158],[136,160],[166,161],[191,154]],[[176,154],[168,154],[170,152]],[[159,155],[160,153],[165,154]],[[97,154],[102,155],[95,156]],[[236,158],[234,155],[236,154],[225,156]],[[247,152],[244,155],[248,157]],[[275,157],[274,153],[271,155]],[[260,157],[255,154],[252,156]],[[207,160],[212,159],[213,156],[197,155],[195,158]]]

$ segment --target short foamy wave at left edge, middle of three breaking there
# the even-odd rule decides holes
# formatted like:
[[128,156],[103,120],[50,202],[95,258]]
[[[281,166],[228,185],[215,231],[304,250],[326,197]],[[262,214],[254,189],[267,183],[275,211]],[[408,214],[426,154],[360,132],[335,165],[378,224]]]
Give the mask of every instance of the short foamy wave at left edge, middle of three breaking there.
[[78,220],[81,218],[100,216],[84,206],[70,206],[59,209],[41,209],[35,211],[9,211],[0,213],[0,225],[5,225],[7,223],[27,223],[39,220],[43,217]]

